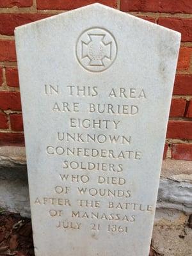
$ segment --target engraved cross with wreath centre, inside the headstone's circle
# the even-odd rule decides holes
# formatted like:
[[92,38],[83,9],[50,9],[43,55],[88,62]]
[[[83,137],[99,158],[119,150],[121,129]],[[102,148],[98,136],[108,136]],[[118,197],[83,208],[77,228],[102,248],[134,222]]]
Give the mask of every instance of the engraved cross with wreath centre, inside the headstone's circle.
[[89,58],[90,66],[104,66],[104,58],[111,60],[111,44],[105,44],[104,38],[106,35],[89,34],[90,41],[88,43],[82,42],[81,58]]

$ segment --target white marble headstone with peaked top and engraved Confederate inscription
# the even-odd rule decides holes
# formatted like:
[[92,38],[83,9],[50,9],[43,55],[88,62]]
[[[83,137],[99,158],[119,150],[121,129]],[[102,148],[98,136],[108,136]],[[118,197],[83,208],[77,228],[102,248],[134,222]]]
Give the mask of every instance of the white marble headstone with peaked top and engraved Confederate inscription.
[[15,36],[36,256],[147,256],[180,34],[92,4]]

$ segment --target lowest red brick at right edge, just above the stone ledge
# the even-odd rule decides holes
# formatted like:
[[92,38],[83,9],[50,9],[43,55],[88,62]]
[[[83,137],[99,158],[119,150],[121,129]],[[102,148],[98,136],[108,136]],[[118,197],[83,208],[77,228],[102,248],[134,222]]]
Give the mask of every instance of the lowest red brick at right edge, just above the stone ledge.
[[173,144],[172,159],[192,160],[192,144]]

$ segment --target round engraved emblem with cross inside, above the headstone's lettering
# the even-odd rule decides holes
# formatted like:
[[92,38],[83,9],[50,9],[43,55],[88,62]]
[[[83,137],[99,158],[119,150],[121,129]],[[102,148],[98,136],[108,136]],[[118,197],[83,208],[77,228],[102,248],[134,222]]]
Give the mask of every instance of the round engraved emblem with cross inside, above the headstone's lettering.
[[106,70],[115,61],[116,53],[115,38],[106,29],[87,29],[77,40],[77,60],[86,70],[92,72]]

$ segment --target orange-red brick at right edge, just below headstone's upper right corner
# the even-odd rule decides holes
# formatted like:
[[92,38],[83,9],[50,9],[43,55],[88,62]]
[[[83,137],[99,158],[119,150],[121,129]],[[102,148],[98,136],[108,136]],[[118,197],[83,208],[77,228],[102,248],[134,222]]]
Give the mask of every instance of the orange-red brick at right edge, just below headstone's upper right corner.
[[177,70],[188,70],[190,66],[192,48],[182,47],[179,51]]

